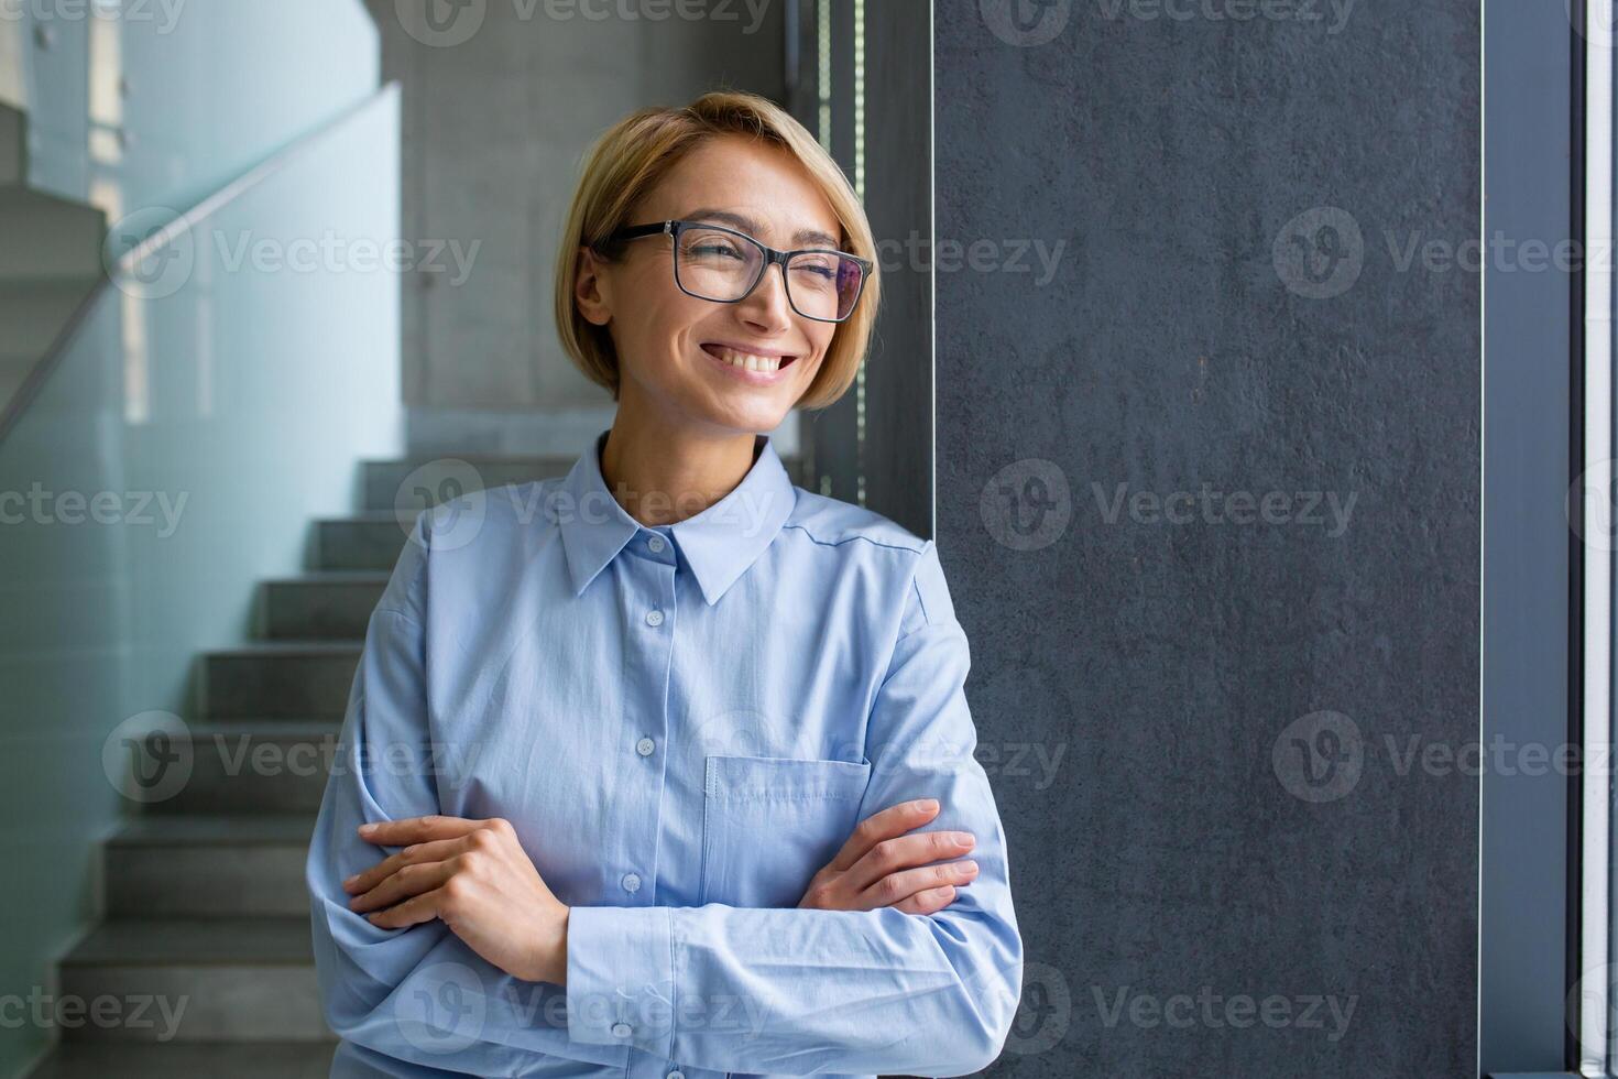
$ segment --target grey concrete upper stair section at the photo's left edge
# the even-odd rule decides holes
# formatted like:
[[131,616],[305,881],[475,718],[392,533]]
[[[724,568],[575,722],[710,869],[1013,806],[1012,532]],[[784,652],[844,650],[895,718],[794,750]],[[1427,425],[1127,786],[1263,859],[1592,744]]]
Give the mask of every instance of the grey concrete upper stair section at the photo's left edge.
[[107,215],[26,183],[28,118],[0,105],[0,414],[105,277]]

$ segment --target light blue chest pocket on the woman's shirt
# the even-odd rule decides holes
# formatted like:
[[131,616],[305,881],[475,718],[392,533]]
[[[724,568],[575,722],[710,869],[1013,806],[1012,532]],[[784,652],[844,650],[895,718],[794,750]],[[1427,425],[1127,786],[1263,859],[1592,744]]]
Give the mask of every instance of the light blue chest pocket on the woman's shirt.
[[697,903],[794,908],[859,823],[870,762],[709,757]]

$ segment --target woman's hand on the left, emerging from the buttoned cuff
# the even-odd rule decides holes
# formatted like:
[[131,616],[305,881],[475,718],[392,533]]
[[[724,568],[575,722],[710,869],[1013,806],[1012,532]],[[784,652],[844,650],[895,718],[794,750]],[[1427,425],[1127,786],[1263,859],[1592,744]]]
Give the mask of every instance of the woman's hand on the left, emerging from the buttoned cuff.
[[438,919],[506,974],[566,984],[568,906],[540,880],[510,822],[408,817],[361,825],[359,838],[404,848],[343,882],[354,896],[349,909],[372,925]]

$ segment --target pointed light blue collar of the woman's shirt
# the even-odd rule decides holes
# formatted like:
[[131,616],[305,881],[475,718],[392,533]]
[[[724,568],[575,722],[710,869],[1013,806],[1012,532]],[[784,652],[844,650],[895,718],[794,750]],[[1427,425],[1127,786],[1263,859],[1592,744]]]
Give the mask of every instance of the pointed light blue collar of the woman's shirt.
[[[605,445],[604,430],[561,480],[565,498],[555,506],[574,595],[581,595],[644,527],[607,490],[600,464]],[[741,482],[702,513],[670,527],[709,607],[759,560],[798,501],[770,437],[754,435],[752,445],[752,468]]]

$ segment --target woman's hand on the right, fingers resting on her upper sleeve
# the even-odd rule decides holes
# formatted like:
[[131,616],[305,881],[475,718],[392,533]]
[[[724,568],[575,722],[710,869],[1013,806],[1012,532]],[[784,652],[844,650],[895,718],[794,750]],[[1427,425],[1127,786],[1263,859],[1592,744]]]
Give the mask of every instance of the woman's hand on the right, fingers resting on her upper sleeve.
[[955,885],[972,880],[977,862],[929,862],[966,854],[976,840],[966,831],[904,835],[937,815],[938,802],[932,798],[870,814],[859,822],[837,857],[814,875],[798,906],[817,911],[892,906],[906,914],[932,914],[950,906]]

